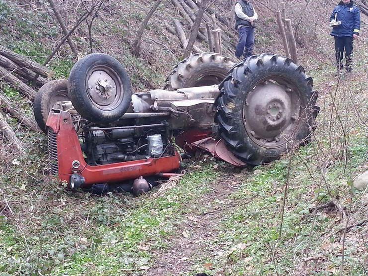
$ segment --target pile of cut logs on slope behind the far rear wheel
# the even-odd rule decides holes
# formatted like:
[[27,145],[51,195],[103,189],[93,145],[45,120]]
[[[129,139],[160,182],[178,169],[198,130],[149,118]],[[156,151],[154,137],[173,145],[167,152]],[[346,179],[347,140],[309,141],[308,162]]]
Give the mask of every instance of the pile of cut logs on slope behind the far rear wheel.
[[[193,26],[200,3],[193,0],[171,0],[171,3],[184,19],[183,22],[174,19],[173,25],[175,34],[178,36],[181,46],[185,50],[188,40],[183,25],[188,27]],[[174,34],[173,28],[170,26],[167,25],[166,29]],[[214,10],[207,8],[203,14],[202,25],[199,29],[197,39],[208,43],[209,52],[216,52],[232,57],[232,43],[230,40],[236,37],[230,30],[231,28],[229,28],[226,21],[220,20],[220,16]],[[194,45],[193,51],[196,53],[204,52],[198,45]]]

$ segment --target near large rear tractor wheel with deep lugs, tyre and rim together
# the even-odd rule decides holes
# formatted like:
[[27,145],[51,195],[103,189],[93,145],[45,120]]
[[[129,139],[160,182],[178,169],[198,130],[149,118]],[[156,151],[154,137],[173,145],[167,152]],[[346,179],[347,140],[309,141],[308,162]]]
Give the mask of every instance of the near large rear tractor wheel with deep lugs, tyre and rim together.
[[220,91],[215,122],[241,160],[268,163],[309,140],[318,94],[312,78],[291,59],[251,56],[229,72]]

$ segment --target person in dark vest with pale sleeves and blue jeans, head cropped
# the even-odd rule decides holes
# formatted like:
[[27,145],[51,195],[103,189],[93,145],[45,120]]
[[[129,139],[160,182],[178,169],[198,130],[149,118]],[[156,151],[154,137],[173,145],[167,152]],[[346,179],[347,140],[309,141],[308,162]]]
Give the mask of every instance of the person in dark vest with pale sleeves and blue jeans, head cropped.
[[247,58],[253,54],[254,49],[254,21],[258,19],[257,12],[248,0],[239,0],[235,5],[235,29],[239,33],[235,56]]

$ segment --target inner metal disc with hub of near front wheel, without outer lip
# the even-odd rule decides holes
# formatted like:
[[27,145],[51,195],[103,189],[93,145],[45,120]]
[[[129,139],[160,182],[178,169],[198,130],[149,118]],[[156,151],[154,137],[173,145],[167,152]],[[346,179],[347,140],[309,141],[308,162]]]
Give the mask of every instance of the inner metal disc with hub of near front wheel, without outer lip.
[[116,83],[112,77],[103,70],[92,72],[87,80],[88,93],[96,104],[107,106],[116,97]]

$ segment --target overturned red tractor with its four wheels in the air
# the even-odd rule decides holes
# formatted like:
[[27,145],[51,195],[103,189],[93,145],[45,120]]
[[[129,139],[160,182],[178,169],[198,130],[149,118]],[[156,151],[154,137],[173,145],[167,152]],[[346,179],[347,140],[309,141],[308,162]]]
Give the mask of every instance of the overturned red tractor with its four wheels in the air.
[[48,136],[52,174],[75,189],[170,176],[181,160],[175,145],[234,166],[271,162],[310,139],[316,99],[312,78],[280,55],[238,64],[193,55],[174,68],[164,89],[131,93],[117,60],[91,54],[68,80],[44,85],[34,110]]

